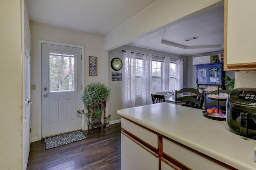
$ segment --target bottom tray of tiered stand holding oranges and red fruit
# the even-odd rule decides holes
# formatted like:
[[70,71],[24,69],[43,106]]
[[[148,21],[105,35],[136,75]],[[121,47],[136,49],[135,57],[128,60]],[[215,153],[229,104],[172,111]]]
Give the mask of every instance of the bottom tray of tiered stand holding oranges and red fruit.
[[218,121],[226,121],[226,113],[217,107],[212,107],[203,111],[202,114],[204,117],[218,120]]

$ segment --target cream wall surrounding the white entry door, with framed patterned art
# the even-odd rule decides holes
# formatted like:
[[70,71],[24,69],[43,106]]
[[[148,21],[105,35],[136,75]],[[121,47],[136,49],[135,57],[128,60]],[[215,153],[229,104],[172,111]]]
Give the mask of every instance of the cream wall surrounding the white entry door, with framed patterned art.
[[[103,40],[102,36],[95,36],[92,34],[86,34],[82,32],[76,32],[71,30],[66,30],[62,28],[56,28],[53,26],[47,26],[43,24],[38,24],[30,22],[30,32],[32,37],[32,84],[36,85],[36,90],[32,91],[32,108],[31,108],[31,137],[32,142],[38,140],[38,96],[41,89],[38,89],[38,40],[47,40],[53,42],[68,43],[74,45],[84,46],[84,56],[85,56],[85,71],[84,79],[85,85],[88,83],[101,81],[108,84],[105,81],[105,72],[108,71],[106,68],[105,58],[103,57]],[[88,56],[98,57],[98,76],[88,76]],[[43,69],[43,68],[42,68]],[[108,110],[107,110],[108,111]],[[107,113],[108,114],[108,113]]]

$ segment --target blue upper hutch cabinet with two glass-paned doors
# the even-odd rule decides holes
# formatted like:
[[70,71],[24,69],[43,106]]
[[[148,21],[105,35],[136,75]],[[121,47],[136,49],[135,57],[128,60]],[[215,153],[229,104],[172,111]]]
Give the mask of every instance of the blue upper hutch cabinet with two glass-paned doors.
[[[196,79],[198,84],[207,85],[220,85],[222,84],[223,62],[221,63],[210,63],[210,64],[199,64],[196,66]],[[221,80],[221,81],[217,81]]]

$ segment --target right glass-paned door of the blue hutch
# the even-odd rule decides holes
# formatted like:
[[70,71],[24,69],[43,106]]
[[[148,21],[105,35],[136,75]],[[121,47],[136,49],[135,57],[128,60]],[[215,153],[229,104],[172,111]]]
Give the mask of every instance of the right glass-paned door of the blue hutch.
[[221,66],[212,66],[208,67],[208,75],[209,75],[209,80],[208,84],[209,85],[220,85],[222,80],[222,67]]

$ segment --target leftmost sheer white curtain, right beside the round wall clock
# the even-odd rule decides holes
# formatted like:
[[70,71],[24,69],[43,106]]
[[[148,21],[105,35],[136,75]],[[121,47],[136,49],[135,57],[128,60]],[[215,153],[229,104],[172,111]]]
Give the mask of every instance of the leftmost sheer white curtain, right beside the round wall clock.
[[135,107],[135,52],[123,52],[124,68],[122,69],[123,109]]

